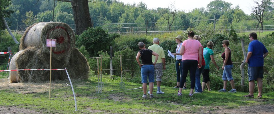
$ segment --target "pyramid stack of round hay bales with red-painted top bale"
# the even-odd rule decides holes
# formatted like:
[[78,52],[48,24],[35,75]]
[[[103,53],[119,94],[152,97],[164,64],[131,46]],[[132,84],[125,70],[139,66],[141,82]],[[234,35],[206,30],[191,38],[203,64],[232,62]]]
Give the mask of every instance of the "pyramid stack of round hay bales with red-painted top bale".
[[[36,23],[29,27],[21,37],[19,51],[11,59],[10,70],[14,69],[49,69],[50,47],[46,39],[57,39],[57,46],[52,47],[52,69],[68,69],[72,78],[87,79],[89,66],[86,58],[75,48],[75,36],[65,23]],[[49,70],[11,71],[10,81],[39,82],[49,80]],[[67,79],[64,70],[52,70],[52,80]]]

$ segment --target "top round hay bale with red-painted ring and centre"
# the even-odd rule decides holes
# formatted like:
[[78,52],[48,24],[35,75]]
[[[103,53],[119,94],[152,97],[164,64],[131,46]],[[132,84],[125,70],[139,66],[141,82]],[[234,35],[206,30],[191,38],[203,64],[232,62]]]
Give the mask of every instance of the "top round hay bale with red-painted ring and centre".
[[42,53],[49,53],[50,47],[46,47],[46,39],[56,39],[56,47],[52,47],[52,57],[68,62],[68,55],[75,48],[75,36],[72,29],[66,23],[41,22],[29,27],[20,39],[19,49],[28,47],[41,48]]

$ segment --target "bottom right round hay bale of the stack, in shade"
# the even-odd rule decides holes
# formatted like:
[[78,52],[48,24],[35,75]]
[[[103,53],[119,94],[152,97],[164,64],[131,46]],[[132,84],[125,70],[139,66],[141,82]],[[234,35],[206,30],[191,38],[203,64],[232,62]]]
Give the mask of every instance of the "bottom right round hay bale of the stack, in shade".
[[77,48],[72,50],[72,54],[67,66],[71,78],[87,79],[89,66],[84,55]]

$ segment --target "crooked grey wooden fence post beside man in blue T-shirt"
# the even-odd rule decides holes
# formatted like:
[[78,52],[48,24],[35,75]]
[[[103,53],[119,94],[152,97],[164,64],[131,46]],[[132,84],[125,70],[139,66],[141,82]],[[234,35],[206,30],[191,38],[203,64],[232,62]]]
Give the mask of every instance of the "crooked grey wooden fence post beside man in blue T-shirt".
[[243,56],[244,56],[244,59],[243,59],[243,62],[240,66],[240,69],[241,69],[241,87],[243,88],[244,85],[245,85],[245,60],[246,60],[246,51],[245,51],[245,43],[244,43],[244,40],[241,39],[241,45],[242,45],[242,51],[243,51]]

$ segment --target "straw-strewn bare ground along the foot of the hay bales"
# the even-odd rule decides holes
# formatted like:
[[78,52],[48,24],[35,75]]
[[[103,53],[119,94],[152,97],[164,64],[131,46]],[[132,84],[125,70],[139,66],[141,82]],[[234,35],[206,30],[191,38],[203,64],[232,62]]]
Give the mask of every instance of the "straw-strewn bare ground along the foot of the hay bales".
[[[55,80],[51,81],[51,89],[67,86],[68,81]],[[7,78],[0,79],[0,90],[9,89],[17,93],[29,94],[29,93],[43,93],[49,91],[49,82],[39,83],[10,83]]]

